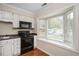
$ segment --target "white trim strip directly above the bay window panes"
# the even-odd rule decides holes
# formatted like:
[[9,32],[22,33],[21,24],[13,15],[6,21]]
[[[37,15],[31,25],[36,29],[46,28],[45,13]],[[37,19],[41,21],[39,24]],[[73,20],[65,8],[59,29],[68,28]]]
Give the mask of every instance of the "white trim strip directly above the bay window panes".
[[61,15],[61,14],[64,14],[65,12],[69,11],[73,7],[75,7],[75,4],[65,6],[65,7],[60,8],[58,10],[55,10],[54,12],[51,12],[50,14],[47,14],[47,15],[38,16],[38,18],[39,19],[41,19],[41,18],[49,18],[49,17],[53,17],[53,15],[54,16]]

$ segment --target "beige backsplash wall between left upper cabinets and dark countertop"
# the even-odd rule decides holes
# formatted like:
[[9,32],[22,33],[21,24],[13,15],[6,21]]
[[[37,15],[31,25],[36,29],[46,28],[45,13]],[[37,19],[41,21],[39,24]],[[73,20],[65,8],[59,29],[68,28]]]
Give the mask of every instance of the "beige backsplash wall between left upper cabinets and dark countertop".
[[0,22],[0,35],[17,34],[17,30],[13,29],[12,23]]

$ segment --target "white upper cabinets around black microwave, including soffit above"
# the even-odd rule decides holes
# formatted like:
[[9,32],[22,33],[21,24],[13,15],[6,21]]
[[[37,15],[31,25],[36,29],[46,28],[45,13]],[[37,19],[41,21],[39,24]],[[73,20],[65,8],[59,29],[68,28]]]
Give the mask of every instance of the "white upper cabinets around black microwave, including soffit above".
[[0,21],[12,22],[14,28],[19,27],[19,21],[31,22],[32,28],[34,28],[33,17],[34,14],[29,11],[6,4],[0,4]]

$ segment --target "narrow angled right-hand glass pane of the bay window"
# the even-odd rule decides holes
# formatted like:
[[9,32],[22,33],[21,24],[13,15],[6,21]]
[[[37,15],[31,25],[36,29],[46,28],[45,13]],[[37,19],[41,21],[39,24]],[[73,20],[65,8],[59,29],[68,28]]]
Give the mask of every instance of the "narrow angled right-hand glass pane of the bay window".
[[73,43],[73,12],[67,14],[67,24],[66,24],[66,41],[68,44]]

